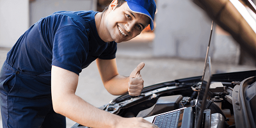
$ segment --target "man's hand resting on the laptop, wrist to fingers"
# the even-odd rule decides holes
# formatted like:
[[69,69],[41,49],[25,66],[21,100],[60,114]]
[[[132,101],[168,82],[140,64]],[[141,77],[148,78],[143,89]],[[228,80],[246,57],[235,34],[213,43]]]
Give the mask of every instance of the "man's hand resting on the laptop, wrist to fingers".
[[154,124],[151,124],[147,120],[144,120],[141,117],[134,117],[134,118],[122,118],[119,120],[116,128],[159,128]]

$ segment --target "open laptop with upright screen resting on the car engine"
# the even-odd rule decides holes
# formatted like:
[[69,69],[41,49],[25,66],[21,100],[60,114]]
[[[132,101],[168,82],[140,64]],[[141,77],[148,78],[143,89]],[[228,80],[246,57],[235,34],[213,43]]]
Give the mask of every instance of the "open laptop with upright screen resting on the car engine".
[[[213,26],[213,22],[212,22]],[[212,35],[212,28],[211,28]],[[159,128],[200,128],[205,110],[206,97],[211,84],[211,57],[208,56],[211,36],[207,47],[205,64],[202,75],[202,84],[197,98],[196,105],[189,108],[180,108],[159,115],[144,118],[148,122],[157,125]]]

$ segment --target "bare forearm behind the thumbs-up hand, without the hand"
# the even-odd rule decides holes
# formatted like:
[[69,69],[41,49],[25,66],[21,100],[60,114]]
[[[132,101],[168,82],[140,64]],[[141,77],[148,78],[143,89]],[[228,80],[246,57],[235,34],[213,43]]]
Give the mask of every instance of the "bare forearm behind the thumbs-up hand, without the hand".
[[123,95],[128,92],[129,77],[116,75],[106,81],[104,86],[112,95]]

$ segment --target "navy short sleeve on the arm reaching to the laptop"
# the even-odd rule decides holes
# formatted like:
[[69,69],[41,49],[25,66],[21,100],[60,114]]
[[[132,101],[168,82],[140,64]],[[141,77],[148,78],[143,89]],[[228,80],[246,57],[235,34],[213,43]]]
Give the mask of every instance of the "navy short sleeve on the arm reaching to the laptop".
[[77,26],[65,26],[54,36],[52,65],[79,75],[88,56],[88,37]]

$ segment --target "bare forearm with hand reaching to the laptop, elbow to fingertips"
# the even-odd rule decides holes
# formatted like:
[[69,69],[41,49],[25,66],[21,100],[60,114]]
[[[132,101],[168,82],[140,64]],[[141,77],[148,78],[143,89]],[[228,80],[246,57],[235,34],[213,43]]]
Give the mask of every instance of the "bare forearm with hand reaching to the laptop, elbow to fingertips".
[[[60,98],[61,97],[61,98]],[[60,99],[53,101],[54,111],[67,116],[78,124],[88,127],[100,128],[129,128],[129,127],[147,127],[156,128],[150,122],[143,118],[123,118],[118,115],[108,113],[107,111],[95,108],[77,95],[60,95]]]

